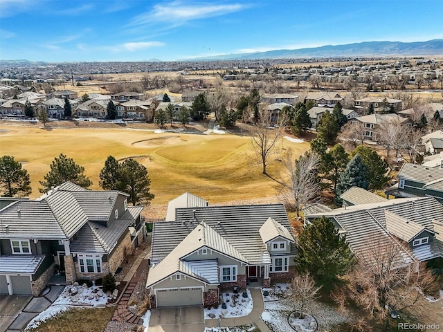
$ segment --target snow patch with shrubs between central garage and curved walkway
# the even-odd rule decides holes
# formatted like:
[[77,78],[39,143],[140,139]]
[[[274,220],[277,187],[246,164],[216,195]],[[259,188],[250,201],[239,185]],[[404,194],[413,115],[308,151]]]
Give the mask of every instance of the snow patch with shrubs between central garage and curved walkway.
[[[226,303],[226,309],[222,309],[221,305],[217,308],[204,309],[204,317],[205,319],[210,319],[210,314],[213,313],[215,318],[219,317],[242,317],[249,315],[253,308],[253,300],[251,297],[251,292],[247,289],[248,297],[245,298],[242,295],[242,292],[238,294],[234,293],[223,293],[223,302]],[[226,310],[226,312],[225,312]],[[223,312],[223,313],[222,313]]]

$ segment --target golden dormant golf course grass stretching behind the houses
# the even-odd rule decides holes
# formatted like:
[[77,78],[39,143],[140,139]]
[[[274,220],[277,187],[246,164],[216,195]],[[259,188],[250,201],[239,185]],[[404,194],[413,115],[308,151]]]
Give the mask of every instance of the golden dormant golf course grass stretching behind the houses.
[[[49,171],[53,158],[63,153],[85,168],[91,189],[100,190],[98,175],[107,156],[137,158],[147,167],[152,205],[163,205],[183,192],[192,192],[210,203],[255,199],[278,194],[278,184],[261,173],[251,139],[235,135],[154,133],[134,129],[52,129],[0,127],[2,155],[24,162],[33,193],[39,196],[39,181]],[[278,178],[282,154],[292,149],[301,154],[307,142],[279,142],[280,155],[269,165],[269,174]]]

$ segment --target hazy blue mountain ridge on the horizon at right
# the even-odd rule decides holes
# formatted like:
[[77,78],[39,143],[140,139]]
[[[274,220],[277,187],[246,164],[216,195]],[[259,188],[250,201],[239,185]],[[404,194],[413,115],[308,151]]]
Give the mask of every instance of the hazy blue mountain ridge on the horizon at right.
[[326,45],[298,50],[269,50],[266,52],[215,55],[194,60],[210,59],[281,59],[288,57],[379,57],[379,56],[443,55],[443,39],[428,42],[362,42],[346,45]]

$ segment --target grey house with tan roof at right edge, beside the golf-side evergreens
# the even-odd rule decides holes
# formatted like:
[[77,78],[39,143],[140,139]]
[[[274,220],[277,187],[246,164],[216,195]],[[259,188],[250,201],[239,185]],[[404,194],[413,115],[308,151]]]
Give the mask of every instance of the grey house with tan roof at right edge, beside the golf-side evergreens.
[[386,197],[431,196],[443,202],[443,167],[404,163],[397,174],[399,182],[385,191]]

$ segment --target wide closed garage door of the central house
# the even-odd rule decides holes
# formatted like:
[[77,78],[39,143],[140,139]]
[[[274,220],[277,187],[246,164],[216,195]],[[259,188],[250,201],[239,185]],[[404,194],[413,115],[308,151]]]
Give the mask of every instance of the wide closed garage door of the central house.
[[158,289],[157,307],[196,306],[203,304],[203,290],[200,287]]

